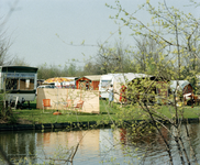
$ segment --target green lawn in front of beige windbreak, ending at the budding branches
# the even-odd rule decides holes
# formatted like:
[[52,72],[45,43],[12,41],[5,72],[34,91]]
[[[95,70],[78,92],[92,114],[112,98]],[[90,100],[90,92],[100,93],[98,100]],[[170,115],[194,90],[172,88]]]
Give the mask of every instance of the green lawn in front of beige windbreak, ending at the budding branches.
[[[24,105],[26,106],[26,105]],[[18,119],[23,119],[25,123],[63,123],[63,122],[87,122],[87,121],[110,121],[115,120],[116,116],[115,113],[119,112],[119,110],[108,107],[108,101],[103,100],[100,101],[100,114],[92,114],[92,113],[81,113],[79,112],[76,114],[76,112],[71,113],[63,113],[62,116],[53,116],[53,112],[55,110],[45,110],[45,113],[43,113],[42,109],[36,109],[36,101],[31,102],[30,109],[22,109],[22,110],[13,110],[15,113],[15,117]],[[108,116],[110,114],[110,116]]]

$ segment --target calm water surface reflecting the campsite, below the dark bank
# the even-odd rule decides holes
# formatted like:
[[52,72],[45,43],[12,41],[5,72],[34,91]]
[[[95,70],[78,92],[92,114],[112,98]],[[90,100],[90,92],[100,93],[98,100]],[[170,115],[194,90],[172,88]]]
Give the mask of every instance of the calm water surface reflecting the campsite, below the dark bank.
[[[189,131],[197,157],[200,160],[200,124],[190,124]],[[175,147],[167,131],[162,129],[162,132]],[[160,162],[168,164],[165,162],[168,155],[165,152],[164,141],[157,134],[152,133],[146,138],[134,139],[131,135],[126,136],[127,134],[130,134],[129,130],[120,129],[0,132],[0,158],[2,160],[0,164],[9,164],[5,160],[10,158],[13,160],[12,162],[21,160],[26,164],[30,162],[42,164],[54,158],[67,160],[78,143],[74,165],[129,164],[129,162],[130,164],[160,164]],[[146,147],[148,145],[151,147]],[[185,145],[189,148],[187,143]],[[177,152],[174,157],[176,163],[180,164]],[[66,163],[56,161],[56,164]]]

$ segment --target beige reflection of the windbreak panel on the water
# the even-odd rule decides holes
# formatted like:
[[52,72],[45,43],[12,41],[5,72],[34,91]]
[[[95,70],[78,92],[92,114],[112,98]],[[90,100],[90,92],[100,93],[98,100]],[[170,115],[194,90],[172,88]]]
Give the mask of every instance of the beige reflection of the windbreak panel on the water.
[[52,157],[55,152],[53,148],[62,145],[69,150],[79,143],[76,160],[84,161],[85,157],[97,156],[96,152],[99,151],[99,132],[100,130],[36,133],[36,145],[37,148],[44,151],[45,155]]

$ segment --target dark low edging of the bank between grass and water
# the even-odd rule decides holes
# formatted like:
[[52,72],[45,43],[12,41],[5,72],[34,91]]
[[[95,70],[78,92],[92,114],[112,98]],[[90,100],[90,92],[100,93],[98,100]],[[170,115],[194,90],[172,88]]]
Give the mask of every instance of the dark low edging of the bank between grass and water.
[[[123,123],[132,123],[132,122],[141,122],[142,120],[134,120],[134,121],[123,121]],[[165,121],[163,121],[165,122]],[[185,119],[182,123],[200,123],[199,118],[189,118]],[[41,124],[8,124],[2,123],[0,124],[0,131],[25,131],[25,130],[46,130],[46,129],[92,129],[92,128],[104,128],[110,127],[112,124],[111,121],[109,122],[97,122],[97,121],[89,121],[89,122],[65,122],[65,123],[41,123]]]

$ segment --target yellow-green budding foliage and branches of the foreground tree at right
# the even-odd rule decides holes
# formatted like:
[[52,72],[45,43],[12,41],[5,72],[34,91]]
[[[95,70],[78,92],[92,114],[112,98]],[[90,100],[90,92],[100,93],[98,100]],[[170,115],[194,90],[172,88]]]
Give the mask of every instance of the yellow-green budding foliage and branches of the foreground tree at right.
[[[191,6],[198,7],[195,1],[190,2]],[[118,22],[118,24],[121,23],[124,28],[129,28],[130,34],[136,42],[132,50],[130,50],[135,57],[133,62],[137,68],[136,73],[144,73],[156,77],[154,80],[145,78],[132,81],[131,85],[126,84],[129,89],[125,97],[129,106],[134,105],[138,109],[133,110],[133,106],[130,106],[130,109],[122,110],[118,117],[121,117],[122,120],[141,118],[144,121],[126,125],[127,130],[131,130],[126,138],[135,139],[138,136],[138,139],[146,139],[152,132],[159,134],[165,143],[168,162],[174,164],[174,151],[160,131],[164,128],[174,138],[180,164],[185,164],[185,161],[190,164],[192,158],[196,160],[197,157],[193,151],[193,157],[188,156],[182,142],[182,132],[187,132],[187,136],[190,136],[187,125],[184,131],[180,130],[181,119],[185,119],[185,112],[187,111],[185,108],[177,107],[177,101],[182,101],[182,94],[175,89],[175,92],[171,92],[173,100],[171,98],[166,98],[164,94],[166,92],[166,87],[169,87],[168,80],[171,79],[189,80],[195,92],[197,92],[200,63],[198,57],[200,51],[199,18],[184,10],[181,11],[179,7],[167,6],[165,0],[163,3],[158,2],[156,7],[147,0],[137,10],[132,12],[127,11],[120,1],[115,1],[115,6],[107,4],[107,7],[116,11],[115,15],[111,16],[111,19]],[[144,15],[144,13],[149,16],[147,22],[137,18],[138,14]],[[121,29],[119,33],[122,33]],[[112,54],[110,54],[111,56]],[[115,72],[116,68],[120,68],[120,66],[113,67],[112,70]],[[160,92],[157,92],[157,90]],[[160,112],[160,109],[165,107],[164,105],[169,102],[170,105],[165,112]],[[168,114],[166,116],[166,113]],[[168,129],[162,121],[170,123],[174,130]],[[149,134],[146,133],[148,130]],[[134,141],[134,143],[137,143],[137,141]],[[190,141],[188,143],[190,144]],[[149,144],[148,146],[153,145]],[[192,148],[191,145],[190,147]]]

